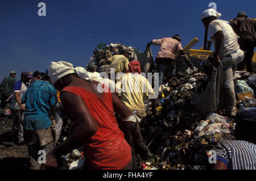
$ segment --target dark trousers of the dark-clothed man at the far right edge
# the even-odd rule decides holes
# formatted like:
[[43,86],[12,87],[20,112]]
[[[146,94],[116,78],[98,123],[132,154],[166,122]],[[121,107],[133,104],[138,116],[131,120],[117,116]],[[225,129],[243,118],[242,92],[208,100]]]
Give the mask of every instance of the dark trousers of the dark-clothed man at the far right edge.
[[252,65],[251,59],[253,58],[253,50],[254,50],[254,40],[253,39],[238,39],[238,43],[240,45],[240,49],[245,52],[245,58],[243,61],[237,65],[237,70],[243,70],[246,65],[247,71],[250,73],[254,72],[254,68]]

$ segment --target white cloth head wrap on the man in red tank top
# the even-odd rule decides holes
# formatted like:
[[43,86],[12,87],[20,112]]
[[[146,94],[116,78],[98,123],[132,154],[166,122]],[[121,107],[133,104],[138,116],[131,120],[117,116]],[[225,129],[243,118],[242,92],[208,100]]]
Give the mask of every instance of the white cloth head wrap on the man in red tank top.
[[73,64],[70,64],[69,62],[65,61],[51,62],[48,71],[48,75],[51,78],[52,84],[57,82],[61,77],[74,73],[78,77],[85,79],[86,81],[92,81],[92,78],[90,78],[88,72],[84,68],[74,68]]

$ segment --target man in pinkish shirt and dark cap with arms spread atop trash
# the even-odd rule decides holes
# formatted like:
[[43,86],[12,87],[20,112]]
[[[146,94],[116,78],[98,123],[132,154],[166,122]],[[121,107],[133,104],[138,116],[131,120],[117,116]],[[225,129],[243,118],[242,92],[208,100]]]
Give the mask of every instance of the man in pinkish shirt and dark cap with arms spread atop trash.
[[158,40],[152,40],[147,46],[151,44],[159,45],[160,49],[155,59],[156,69],[159,73],[159,86],[163,83],[164,73],[170,74],[171,77],[176,75],[175,56],[177,53],[187,62],[188,66],[192,69],[193,64],[189,60],[188,56],[185,55],[182,45],[180,43],[181,38],[179,35],[171,37],[164,37]]

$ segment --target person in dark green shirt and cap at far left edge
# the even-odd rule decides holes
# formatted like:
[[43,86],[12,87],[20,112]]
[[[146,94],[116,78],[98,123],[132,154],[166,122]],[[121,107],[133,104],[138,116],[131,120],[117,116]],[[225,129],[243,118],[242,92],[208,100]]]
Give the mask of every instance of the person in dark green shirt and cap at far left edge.
[[3,79],[3,81],[0,84],[0,87],[2,88],[2,99],[1,99],[1,108],[4,109],[7,102],[6,99],[8,99],[11,94],[13,94],[13,87],[14,83],[16,82],[16,72],[10,71],[10,76]]

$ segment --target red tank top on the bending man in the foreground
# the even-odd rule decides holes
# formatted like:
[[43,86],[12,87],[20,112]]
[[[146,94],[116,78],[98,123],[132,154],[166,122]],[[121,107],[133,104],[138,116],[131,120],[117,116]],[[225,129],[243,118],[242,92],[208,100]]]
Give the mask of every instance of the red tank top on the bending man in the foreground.
[[[62,91],[79,95],[97,122],[97,132],[88,139],[85,147],[85,164],[89,169],[123,169],[131,160],[131,148],[118,128],[114,116],[112,94],[103,86],[102,98],[81,87],[68,86]],[[61,92],[62,92],[61,91]]]

